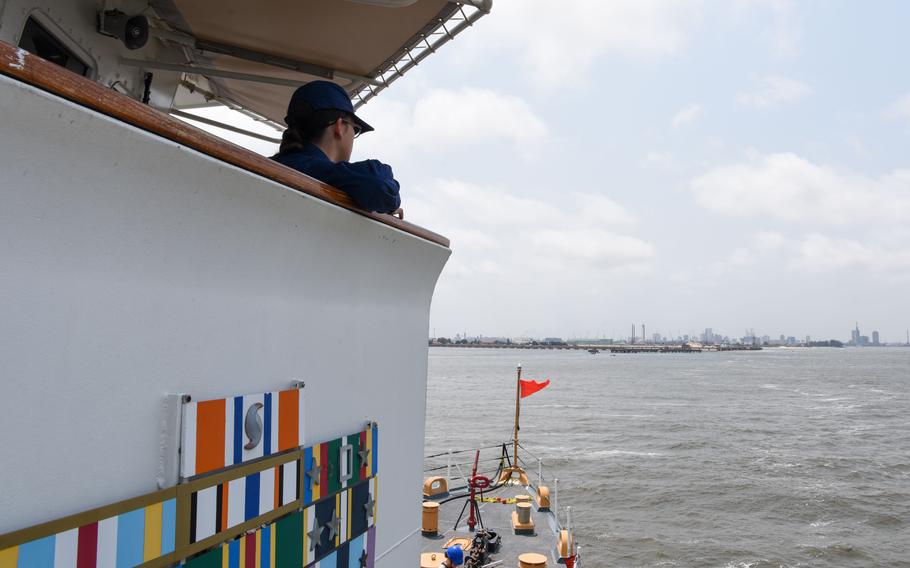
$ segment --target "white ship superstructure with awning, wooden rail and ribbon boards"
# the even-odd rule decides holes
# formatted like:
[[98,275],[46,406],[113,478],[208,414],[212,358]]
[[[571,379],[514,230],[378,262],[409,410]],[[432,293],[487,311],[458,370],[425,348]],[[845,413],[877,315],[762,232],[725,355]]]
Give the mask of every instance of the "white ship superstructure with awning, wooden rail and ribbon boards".
[[0,566],[415,563],[448,240],[173,115],[362,104],[489,8],[0,1]]

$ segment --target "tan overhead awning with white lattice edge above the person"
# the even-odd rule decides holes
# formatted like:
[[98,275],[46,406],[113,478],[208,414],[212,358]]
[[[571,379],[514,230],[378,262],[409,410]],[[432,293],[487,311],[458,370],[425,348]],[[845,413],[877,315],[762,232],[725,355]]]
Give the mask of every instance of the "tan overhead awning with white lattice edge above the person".
[[329,79],[365,103],[489,12],[492,0],[151,0],[185,61],[146,62],[283,123],[297,85]]

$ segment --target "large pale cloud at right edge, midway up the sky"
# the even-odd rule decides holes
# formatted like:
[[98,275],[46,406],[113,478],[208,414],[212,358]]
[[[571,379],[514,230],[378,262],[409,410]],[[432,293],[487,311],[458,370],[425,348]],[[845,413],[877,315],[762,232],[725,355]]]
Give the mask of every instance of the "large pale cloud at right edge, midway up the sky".
[[910,223],[910,170],[874,178],[795,154],[712,168],[689,187],[702,207],[738,217],[829,225]]

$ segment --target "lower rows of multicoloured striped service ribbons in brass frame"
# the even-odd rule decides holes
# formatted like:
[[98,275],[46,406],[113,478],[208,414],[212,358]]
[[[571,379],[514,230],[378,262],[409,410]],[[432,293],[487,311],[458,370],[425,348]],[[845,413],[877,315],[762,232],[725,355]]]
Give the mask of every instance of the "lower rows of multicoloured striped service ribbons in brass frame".
[[[263,400],[268,401],[268,394]],[[298,401],[292,399],[292,403]],[[23,530],[21,536],[0,536],[6,546],[0,550],[0,568],[125,568],[156,559],[177,563],[190,550],[198,550],[187,547],[209,538],[218,542],[222,533],[234,529],[221,536],[221,540],[232,538],[242,524],[252,532],[187,564],[372,566],[378,443],[378,428],[371,425],[262,464],[244,465],[237,473],[229,469],[89,511],[71,521]],[[264,515],[270,515],[270,520],[275,511],[289,506],[302,510],[266,524]],[[190,518],[179,523],[177,511],[187,511]],[[178,526],[185,527],[183,532],[178,533]],[[54,534],[48,536],[49,532]],[[296,551],[296,564],[281,560],[290,551]]]

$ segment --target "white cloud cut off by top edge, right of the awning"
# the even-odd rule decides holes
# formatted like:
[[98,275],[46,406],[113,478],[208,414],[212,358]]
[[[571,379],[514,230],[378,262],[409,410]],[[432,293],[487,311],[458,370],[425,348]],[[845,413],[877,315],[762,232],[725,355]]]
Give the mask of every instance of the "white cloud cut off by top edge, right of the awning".
[[606,56],[679,52],[699,23],[701,2],[512,0],[497,2],[494,10],[492,41],[518,52],[528,77],[552,87],[577,82]]

